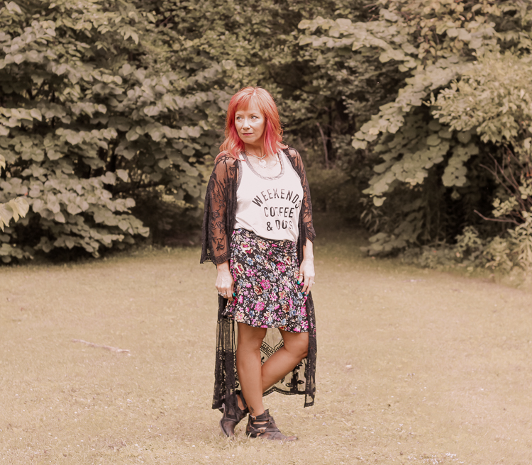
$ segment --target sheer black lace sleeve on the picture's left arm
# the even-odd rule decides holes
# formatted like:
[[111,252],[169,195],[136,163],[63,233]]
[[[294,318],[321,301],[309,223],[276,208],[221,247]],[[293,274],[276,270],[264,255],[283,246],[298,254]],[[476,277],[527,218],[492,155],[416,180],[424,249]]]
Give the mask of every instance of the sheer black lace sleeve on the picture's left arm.
[[228,238],[228,211],[231,211],[231,190],[235,160],[222,155],[216,160],[205,196],[201,260],[221,264],[231,258]]

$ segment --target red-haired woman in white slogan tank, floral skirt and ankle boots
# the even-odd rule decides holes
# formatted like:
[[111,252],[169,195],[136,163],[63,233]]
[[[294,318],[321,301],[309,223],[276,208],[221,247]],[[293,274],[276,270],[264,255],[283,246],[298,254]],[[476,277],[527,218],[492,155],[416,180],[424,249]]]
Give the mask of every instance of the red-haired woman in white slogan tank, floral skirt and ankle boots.
[[225,136],[207,187],[201,251],[201,263],[218,269],[213,408],[223,411],[228,437],[249,412],[248,436],[292,441],[262,397],[304,394],[305,406],[314,404],[309,185],[299,153],[282,144],[277,107],[265,89],[233,96]]

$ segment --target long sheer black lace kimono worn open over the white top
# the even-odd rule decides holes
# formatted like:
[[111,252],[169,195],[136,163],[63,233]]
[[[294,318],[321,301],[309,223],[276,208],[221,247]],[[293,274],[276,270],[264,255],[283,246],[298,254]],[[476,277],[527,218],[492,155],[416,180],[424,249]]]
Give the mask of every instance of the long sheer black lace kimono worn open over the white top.
[[[303,203],[299,215],[299,237],[297,240],[297,257],[299,264],[303,259],[303,245],[309,239],[314,242],[316,233],[312,225],[312,208],[309,184],[306,181],[303,162],[297,150],[284,150],[292,163],[303,186]],[[240,161],[223,155],[216,160],[211,179],[207,186],[205,197],[205,213],[203,219],[203,234],[201,263],[213,262],[221,264],[231,259],[231,235],[235,225],[236,189],[238,186]],[[222,409],[226,401],[226,394],[233,393],[238,386],[236,372],[236,334],[235,323],[222,315],[227,299],[218,296],[218,326],[216,335],[216,368],[214,371],[213,408]],[[316,320],[314,318],[314,303],[312,296],[306,300],[306,313],[309,319],[309,349],[305,359],[275,386],[264,393],[266,396],[273,391],[282,394],[304,394],[305,407],[314,405],[316,384]],[[282,347],[282,337],[278,330],[268,329],[260,348],[262,363],[277,349]],[[228,396],[228,401],[234,401],[235,396]],[[235,405],[228,405],[235,408]]]

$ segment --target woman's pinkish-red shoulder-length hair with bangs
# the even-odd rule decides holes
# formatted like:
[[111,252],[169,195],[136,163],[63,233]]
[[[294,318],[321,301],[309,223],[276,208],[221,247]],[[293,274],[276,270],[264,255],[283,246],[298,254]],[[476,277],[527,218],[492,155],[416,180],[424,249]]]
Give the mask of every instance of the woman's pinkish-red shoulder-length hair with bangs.
[[226,116],[226,140],[220,145],[221,154],[224,153],[238,159],[240,152],[244,151],[244,142],[240,139],[235,127],[235,113],[238,110],[247,110],[253,106],[258,108],[266,118],[266,127],[263,135],[265,152],[274,154],[279,149],[288,147],[282,143],[279,112],[270,92],[262,89],[262,87],[244,87],[233,95],[229,102]]

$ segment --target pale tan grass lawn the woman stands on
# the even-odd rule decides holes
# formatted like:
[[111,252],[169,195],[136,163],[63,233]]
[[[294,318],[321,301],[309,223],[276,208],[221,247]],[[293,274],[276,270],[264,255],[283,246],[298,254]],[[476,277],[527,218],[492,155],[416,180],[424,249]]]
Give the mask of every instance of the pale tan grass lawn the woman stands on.
[[266,398],[290,444],[221,435],[196,248],[0,268],[0,465],[531,464],[532,293],[357,245],[316,242],[316,405]]

